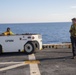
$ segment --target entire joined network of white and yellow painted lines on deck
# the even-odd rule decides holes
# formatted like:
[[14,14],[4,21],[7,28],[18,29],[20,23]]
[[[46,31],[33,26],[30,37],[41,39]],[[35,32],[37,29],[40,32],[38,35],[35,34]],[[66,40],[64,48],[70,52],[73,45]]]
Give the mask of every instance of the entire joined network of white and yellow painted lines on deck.
[[14,68],[29,64],[30,65],[30,75],[41,75],[39,68],[38,68],[38,65],[37,65],[39,63],[40,63],[40,61],[36,60],[35,55],[32,54],[32,55],[29,55],[29,61],[25,61],[25,62],[13,62],[13,61],[0,62],[0,64],[14,64],[14,65],[11,65],[8,67],[0,68],[0,71],[6,71],[6,70],[14,69]]

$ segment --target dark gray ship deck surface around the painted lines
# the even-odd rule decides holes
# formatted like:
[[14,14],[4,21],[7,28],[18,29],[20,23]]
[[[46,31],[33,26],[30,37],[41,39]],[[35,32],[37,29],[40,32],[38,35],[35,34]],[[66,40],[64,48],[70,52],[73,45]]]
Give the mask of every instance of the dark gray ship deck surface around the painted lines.
[[[76,57],[71,59],[71,49],[47,49],[35,53],[40,61],[38,68],[41,75],[76,75]],[[23,53],[6,53],[0,56],[1,62],[25,62],[28,55]],[[0,69],[13,64],[0,64]],[[24,65],[1,71],[0,75],[30,75],[30,66]]]

